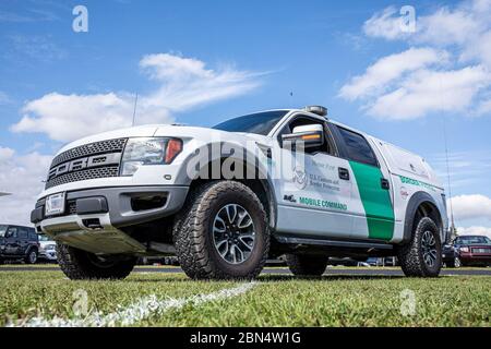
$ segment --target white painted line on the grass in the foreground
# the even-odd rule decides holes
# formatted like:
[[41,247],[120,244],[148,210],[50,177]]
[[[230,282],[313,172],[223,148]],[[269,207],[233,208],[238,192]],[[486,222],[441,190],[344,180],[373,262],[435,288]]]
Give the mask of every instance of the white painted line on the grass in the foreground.
[[100,312],[89,313],[80,318],[44,318],[43,316],[32,317],[25,322],[8,324],[8,327],[113,327],[131,326],[140,321],[154,315],[161,315],[170,310],[182,309],[187,304],[201,305],[207,302],[219,301],[246,293],[255,286],[255,282],[241,284],[238,287],[223,289],[208,294],[196,294],[189,298],[158,299],[152,294],[137,300],[127,308],[120,306],[116,312],[101,314]]

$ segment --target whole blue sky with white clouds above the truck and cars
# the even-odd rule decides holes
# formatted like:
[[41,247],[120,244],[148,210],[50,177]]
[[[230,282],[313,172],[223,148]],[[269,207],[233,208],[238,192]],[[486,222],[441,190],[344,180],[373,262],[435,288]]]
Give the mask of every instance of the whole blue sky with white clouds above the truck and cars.
[[[88,10],[87,33],[72,29],[79,4]],[[405,4],[3,0],[0,165],[9,170],[0,191],[15,195],[0,205],[32,205],[49,157],[91,128],[131,122],[139,93],[140,123],[213,125],[324,105],[333,119],[423,155],[442,174],[445,124],[457,226],[489,232],[490,1],[411,1],[414,33],[396,22]],[[82,124],[84,112],[92,117]],[[25,221],[20,212],[0,218]]]

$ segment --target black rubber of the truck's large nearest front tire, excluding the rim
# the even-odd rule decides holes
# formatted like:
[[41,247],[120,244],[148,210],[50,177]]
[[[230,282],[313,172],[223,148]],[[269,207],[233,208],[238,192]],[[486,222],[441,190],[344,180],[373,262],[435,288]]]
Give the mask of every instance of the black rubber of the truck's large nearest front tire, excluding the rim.
[[[229,264],[213,242],[213,220],[227,204],[238,204],[250,214],[255,243],[244,262]],[[237,181],[213,181],[193,189],[177,215],[173,229],[179,264],[193,279],[253,279],[264,267],[270,251],[270,229],[261,201],[247,185]]]

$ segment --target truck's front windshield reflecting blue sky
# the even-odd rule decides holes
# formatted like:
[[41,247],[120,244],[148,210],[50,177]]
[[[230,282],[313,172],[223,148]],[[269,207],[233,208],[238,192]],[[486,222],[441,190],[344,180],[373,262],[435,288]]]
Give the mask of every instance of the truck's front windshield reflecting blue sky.
[[227,120],[213,127],[213,129],[267,135],[287,112],[288,110],[275,110],[251,113],[249,116]]

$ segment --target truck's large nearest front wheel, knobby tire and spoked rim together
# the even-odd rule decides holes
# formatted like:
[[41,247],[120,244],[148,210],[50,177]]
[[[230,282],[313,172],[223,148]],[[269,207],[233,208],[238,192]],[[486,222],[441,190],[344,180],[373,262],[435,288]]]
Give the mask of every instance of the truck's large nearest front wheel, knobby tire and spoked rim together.
[[266,262],[270,232],[247,185],[216,181],[193,190],[173,227],[179,263],[195,279],[251,279]]

